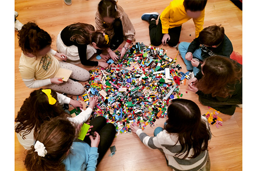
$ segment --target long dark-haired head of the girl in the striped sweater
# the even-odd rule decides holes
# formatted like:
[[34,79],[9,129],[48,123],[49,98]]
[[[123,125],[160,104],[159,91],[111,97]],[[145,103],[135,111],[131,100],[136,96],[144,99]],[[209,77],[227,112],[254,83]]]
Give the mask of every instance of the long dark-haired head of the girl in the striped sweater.
[[[206,125],[201,120],[201,111],[198,105],[187,99],[173,99],[167,109],[168,120],[165,130],[168,133],[176,133],[178,142],[182,149],[177,152],[186,158],[191,148],[194,149],[194,155],[189,156],[195,158],[201,151],[208,147],[208,134]],[[203,143],[204,148],[202,148]]]

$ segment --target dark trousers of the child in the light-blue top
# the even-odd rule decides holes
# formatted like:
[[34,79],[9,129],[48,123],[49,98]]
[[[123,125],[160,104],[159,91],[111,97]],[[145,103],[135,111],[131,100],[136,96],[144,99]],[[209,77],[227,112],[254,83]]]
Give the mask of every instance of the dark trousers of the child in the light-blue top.
[[[113,124],[106,124],[106,119],[104,117],[96,117],[89,122],[90,125],[94,127],[91,129],[90,134],[94,134],[96,131],[100,135],[100,143],[98,145],[99,156],[97,158],[97,165],[103,158],[104,154],[107,152],[113,139],[115,138],[116,129]],[[86,136],[84,142],[88,143],[91,146],[91,140],[89,136]]]

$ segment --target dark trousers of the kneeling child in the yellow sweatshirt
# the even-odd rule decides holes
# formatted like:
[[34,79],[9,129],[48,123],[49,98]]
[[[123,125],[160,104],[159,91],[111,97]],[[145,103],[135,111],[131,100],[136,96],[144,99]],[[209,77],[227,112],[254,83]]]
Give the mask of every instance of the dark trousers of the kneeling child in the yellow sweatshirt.
[[[169,46],[173,47],[177,45],[180,37],[180,32],[181,32],[181,26],[173,27],[169,29],[168,33],[170,36],[170,40],[167,41]],[[163,34],[162,34],[162,24],[160,19],[159,19],[158,25],[156,25],[156,20],[150,21],[149,35],[150,35],[150,40],[152,45],[154,46],[161,45]]]

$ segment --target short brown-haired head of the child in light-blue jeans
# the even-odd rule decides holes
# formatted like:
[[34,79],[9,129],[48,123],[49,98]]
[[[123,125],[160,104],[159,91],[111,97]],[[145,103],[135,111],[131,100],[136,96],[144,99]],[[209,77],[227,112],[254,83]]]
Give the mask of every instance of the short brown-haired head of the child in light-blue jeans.
[[221,25],[206,27],[199,33],[200,43],[208,46],[219,45],[223,41],[224,37],[225,30]]

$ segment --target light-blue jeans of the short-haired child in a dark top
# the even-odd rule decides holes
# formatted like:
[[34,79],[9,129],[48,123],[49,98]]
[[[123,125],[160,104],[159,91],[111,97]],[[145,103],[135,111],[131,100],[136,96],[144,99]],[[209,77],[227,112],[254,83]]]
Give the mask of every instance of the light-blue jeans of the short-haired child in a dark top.
[[[179,53],[180,53],[180,55],[181,55],[181,57],[182,57],[182,59],[183,59],[183,61],[184,61],[184,63],[185,63],[186,70],[188,70],[188,71],[189,71],[189,70],[193,70],[194,74],[197,75],[197,73],[200,71],[200,69],[198,69],[197,67],[193,67],[192,64],[191,64],[191,62],[190,62],[190,61],[187,61],[187,60],[185,59],[185,54],[186,54],[186,52],[187,52],[187,49],[188,49],[188,47],[189,47],[189,44],[190,44],[189,42],[181,42],[181,43],[179,43],[179,45],[178,45],[178,50],[179,50]],[[203,61],[203,58],[202,58],[201,53],[202,53],[201,48],[198,48],[198,49],[195,50],[194,53],[192,53],[192,55],[193,55],[195,58],[197,58],[197,59]]]

